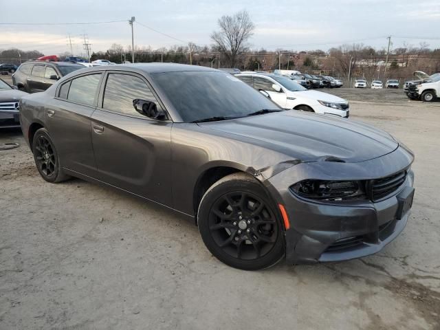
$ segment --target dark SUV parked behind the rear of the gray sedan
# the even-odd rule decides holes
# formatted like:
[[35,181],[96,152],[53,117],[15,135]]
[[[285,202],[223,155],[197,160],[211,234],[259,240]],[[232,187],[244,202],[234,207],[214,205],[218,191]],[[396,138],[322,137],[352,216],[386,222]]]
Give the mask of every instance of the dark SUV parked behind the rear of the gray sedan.
[[83,65],[67,62],[28,61],[12,75],[12,83],[28,93],[45,91],[59,78],[84,68]]

